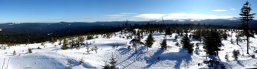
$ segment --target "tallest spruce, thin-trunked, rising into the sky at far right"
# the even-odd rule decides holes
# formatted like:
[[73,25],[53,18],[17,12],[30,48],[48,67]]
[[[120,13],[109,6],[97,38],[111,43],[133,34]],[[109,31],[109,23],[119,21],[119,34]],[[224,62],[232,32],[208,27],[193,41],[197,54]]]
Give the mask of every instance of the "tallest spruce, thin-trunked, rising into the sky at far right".
[[249,21],[254,20],[254,15],[256,13],[251,14],[250,11],[252,10],[250,2],[246,1],[246,3],[243,5],[241,8],[241,13],[239,14],[241,19],[241,22],[246,22],[246,23],[241,23],[240,26],[244,30],[244,34],[247,36],[247,54],[249,54]]

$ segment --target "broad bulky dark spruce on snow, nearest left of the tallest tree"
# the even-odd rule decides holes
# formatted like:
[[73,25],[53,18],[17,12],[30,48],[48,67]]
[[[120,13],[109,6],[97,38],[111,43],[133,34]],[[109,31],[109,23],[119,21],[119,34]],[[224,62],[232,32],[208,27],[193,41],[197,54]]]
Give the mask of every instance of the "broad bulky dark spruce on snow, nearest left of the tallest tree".
[[218,51],[221,49],[221,36],[216,30],[211,30],[208,34],[204,37],[204,49],[206,53],[210,55],[218,55]]

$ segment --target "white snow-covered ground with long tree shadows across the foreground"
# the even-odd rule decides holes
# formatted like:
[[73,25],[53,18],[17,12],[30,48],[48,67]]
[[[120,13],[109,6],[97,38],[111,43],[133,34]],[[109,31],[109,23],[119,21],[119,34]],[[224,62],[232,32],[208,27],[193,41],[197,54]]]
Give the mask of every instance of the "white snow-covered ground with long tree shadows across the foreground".
[[[117,33],[118,34],[118,33]],[[231,34],[231,33],[230,33]],[[128,34],[126,34],[128,35]],[[61,45],[58,45],[58,41],[54,44],[49,42],[45,43],[45,47],[41,43],[35,44],[21,44],[20,46],[6,46],[6,50],[0,49],[0,66],[3,69],[69,69],[67,60],[71,60],[72,69],[102,69],[104,61],[109,62],[111,54],[117,60],[117,69],[208,69],[208,65],[204,64],[204,60],[214,59],[220,61],[225,65],[226,69],[246,69],[246,68],[257,68],[257,59],[252,58],[251,55],[254,53],[257,47],[257,38],[250,37],[250,49],[247,52],[246,42],[230,42],[231,37],[226,40],[222,40],[224,46],[221,48],[223,51],[219,52],[218,56],[207,55],[203,50],[203,44],[200,43],[200,49],[194,47],[193,54],[188,54],[186,49],[175,46],[176,41],[181,40],[181,36],[175,40],[174,35],[167,36],[167,43],[170,46],[167,50],[161,49],[160,42],[164,37],[164,33],[154,33],[155,42],[152,48],[148,48],[144,45],[137,46],[137,53],[135,48],[128,49],[129,41],[131,39],[120,38],[119,35],[111,37],[110,39],[103,38],[99,35],[99,38],[85,40],[87,42],[95,43],[90,44],[90,48],[94,45],[98,46],[98,53],[94,51],[86,52],[86,46],[83,45],[81,49],[67,49],[62,50]],[[235,39],[235,34],[232,38]],[[122,35],[125,36],[125,35]],[[126,37],[126,36],[125,36]],[[141,41],[146,39],[147,35],[144,36]],[[257,35],[255,35],[257,37]],[[196,39],[191,39],[192,43],[199,42]],[[112,44],[119,44],[115,49],[112,48]],[[57,46],[54,46],[57,45]],[[26,54],[28,46],[33,48],[33,53]],[[38,47],[43,49],[37,49]],[[234,60],[231,57],[232,51],[240,50],[240,56],[238,60]],[[13,51],[16,51],[13,56]],[[225,60],[224,56],[226,52],[229,54],[229,60]],[[8,59],[10,60],[8,62]],[[160,57],[160,60],[157,58]],[[5,61],[4,61],[5,58]],[[79,60],[83,58],[85,61],[82,65],[79,64]],[[202,66],[198,66],[198,63],[202,63]]]

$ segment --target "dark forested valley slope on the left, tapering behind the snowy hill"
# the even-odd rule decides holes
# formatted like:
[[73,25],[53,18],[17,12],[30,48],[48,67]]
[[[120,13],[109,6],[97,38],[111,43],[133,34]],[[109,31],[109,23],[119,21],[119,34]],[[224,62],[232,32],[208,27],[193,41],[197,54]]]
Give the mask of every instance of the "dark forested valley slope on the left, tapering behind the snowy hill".
[[0,44],[28,44],[29,43],[41,43],[45,41],[52,41],[57,39],[64,39],[69,37],[77,37],[82,35],[95,35],[95,34],[108,34],[113,32],[118,32],[124,28],[109,28],[100,30],[91,30],[88,32],[72,33],[72,34],[62,34],[62,35],[38,35],[31,33],[13,33],[9,31],[0,31]]

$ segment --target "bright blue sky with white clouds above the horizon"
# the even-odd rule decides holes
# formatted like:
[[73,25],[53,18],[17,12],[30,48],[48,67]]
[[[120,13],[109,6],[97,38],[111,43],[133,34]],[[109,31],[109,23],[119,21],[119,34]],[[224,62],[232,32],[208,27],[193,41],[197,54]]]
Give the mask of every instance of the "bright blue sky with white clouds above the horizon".
[[[257,0],[248,0],[257,13]],[[0,0],[0,23],[239,17],[246,0]],[[257,20],[257,18],[255,18]]]

